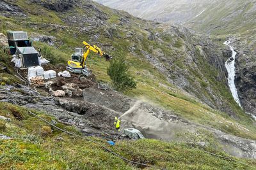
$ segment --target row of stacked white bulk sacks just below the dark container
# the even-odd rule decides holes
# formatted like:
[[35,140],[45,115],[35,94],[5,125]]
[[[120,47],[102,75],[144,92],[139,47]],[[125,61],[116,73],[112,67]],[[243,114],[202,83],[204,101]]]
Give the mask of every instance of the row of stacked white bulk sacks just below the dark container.
[[56,78],[56,71],[54,70],[49,70],[49,71],[44,71],[44,68],[41,66],[36,66],[36,67],[29,67],[28,68],[28,80],[30,81],[31,78],[40,76],[44,79],[50,79],[50,78]]

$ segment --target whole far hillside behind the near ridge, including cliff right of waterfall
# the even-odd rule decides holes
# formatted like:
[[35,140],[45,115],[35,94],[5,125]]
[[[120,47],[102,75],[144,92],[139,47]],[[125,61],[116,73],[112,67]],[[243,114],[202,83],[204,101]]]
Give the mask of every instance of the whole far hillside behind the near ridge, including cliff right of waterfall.
[[239,52],[236,62],[238,94],[243,108],[256,115],[255,1],[99,2],[150,20],[183,24],[202,34],[211,34],[211,38],[218,41],[228,35],[236,37],[232,43]]

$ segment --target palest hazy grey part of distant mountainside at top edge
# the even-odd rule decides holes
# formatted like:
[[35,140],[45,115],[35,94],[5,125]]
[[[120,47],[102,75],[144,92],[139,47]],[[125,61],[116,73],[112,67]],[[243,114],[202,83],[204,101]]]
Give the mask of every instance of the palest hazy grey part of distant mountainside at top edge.
[[137,17],[155,20],[157,22],[171,22],[173,24],[184,24],[198,17],[208,6],[216,2],[209,0],[95,1],[111,8],[128,11]]

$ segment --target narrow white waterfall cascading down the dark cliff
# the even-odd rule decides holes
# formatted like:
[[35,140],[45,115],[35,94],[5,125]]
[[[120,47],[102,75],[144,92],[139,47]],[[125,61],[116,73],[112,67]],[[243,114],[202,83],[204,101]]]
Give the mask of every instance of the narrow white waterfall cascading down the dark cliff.
[[237,94],[236,84],[235,84],[235,76],[236,76],[235,62],[236,62],[237,52],[235,52],[233,46],[231,46],[230,43],[231,43],[231,39],[224,42],[224,44],[228,45],[230,47],[230,50],[232,51],[232,57],[230,57],[225,63],[226,69],[228,71],[228,85],[236,103],[239,104],[239,106],[242,108],[238,94]]

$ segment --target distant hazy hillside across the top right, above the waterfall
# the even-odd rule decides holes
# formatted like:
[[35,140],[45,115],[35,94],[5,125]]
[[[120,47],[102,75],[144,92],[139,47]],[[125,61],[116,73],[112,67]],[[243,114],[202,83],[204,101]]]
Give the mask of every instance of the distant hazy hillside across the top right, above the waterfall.
[[141,18],[183,24],[209,34],[248,35],[255,27],[255,1],[95,1]]

